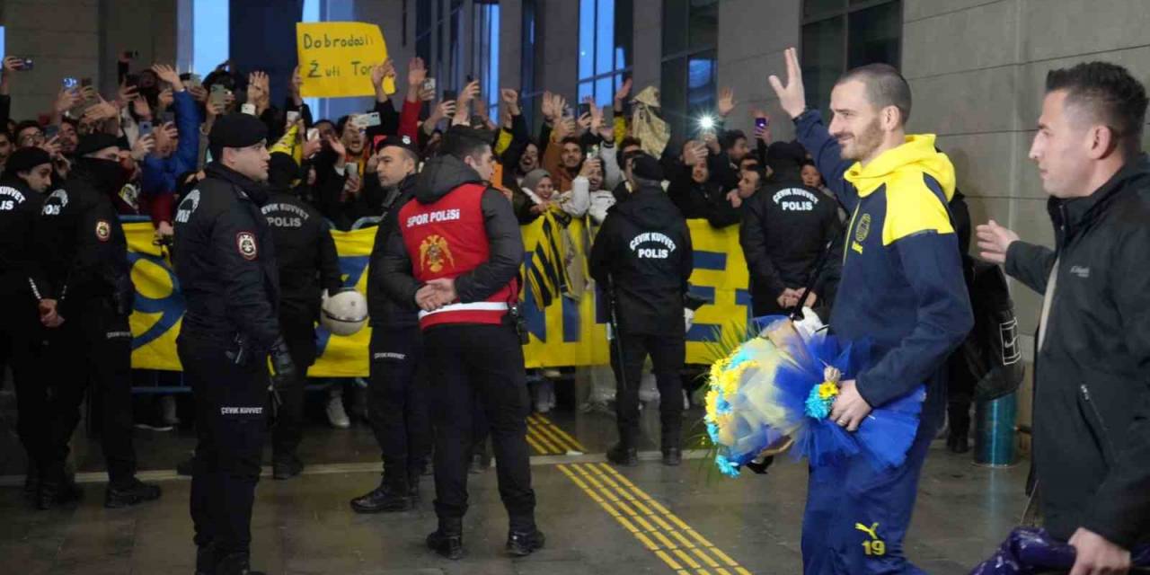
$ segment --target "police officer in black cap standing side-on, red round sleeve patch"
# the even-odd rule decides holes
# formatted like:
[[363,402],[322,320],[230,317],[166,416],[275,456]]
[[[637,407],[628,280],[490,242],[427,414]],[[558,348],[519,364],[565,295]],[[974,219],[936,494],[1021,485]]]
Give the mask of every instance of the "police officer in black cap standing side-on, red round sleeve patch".
[[191,512],[205,574],[252,573],[269,355],[276,383],[297,374],[279,330],[275,241],[260,213],[266,138],[254,116],[217,118],[208,135],[214,161],[176,210],[176,277],[187,305],[176,350],[195,399]]

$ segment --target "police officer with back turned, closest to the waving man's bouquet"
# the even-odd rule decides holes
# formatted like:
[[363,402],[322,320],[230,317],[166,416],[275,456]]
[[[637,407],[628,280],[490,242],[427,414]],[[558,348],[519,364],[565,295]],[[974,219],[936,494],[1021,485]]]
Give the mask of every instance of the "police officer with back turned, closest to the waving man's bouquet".
[[[803,185],[804,154],[797,144],[772,144],[767,161],[774,179],[743,200],[738,241],[746,258],[756,317],[785,314],[798,305],[819,255],[841,233],[835,200]],[[842,260],[837,245],[831,248],[838,256],[827,256],[807,302],[822,317],[829,317]]]

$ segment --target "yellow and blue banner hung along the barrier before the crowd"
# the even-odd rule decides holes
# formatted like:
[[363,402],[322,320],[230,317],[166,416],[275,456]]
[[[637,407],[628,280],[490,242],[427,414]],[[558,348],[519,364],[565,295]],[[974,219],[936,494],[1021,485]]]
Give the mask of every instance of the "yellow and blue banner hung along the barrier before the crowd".
[[[555,239],[553,218],[539,218],[524,225],[523,276],[532,274],[578,281],[585,277],[590,246],[585,223],[574,220],[567,227],[570,240],[566,262],[553,261]],[[738,228],[714,229],[703,220],[692,220],[691,241],[695,244],[695,273],[691,291],[708,301],[695,315],[695,325],[687,334],[688,363],[711,363],[719,340],[739,340],[750,315],[750,293],[743,252],[738,245]],[[131,316],[132,367],[137,369],[179,370],[176,336],[184,315],[184,298],[171,260],[152,244],[153,228],[147,222],[124,223],[128,237],[128,260],[136,284],[136,308]],[[332,231],[344,285],[367,291],[368,261],[375,241],[375,228],[355,231]],[[573,270],[560,274],[557,266]],[[582,271],[582,274],[580,273]],[[546,293],[524,289],[523,316],[530,342],[523,347],[527,367],[562,367],[605,365],[608,361],[607,316],[600,305],[604,296],[596,289],[583,291],[578,299],[570,289],[544,282]],[[574,290],[576,293],[578,290]],[[544,301],[547,301],[544,304]],[[348,337],[332,337],[316,328],[319,358],[308,370],[312,377],[366,377],[370,328]]]

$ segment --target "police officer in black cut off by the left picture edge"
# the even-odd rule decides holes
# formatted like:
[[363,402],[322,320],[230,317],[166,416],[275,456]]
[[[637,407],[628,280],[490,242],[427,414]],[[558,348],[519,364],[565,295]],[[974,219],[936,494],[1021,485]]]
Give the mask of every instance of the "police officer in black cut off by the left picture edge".
[[36,292],[47,283],[33,240],[45,192],[52,185],[52,158],[41,148],[12,153],[0,177],[0,338],[9,343],[16,385],[16,434],[28,454],[24,491],[39,489],[48,438],[48,393],[43,376],[45,327]]

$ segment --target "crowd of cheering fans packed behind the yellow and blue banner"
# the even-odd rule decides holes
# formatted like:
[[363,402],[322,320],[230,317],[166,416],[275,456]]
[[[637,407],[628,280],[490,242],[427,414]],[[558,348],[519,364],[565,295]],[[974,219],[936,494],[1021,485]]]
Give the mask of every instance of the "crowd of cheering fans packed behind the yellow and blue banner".
[[[262,71],[240,74],[224,62],[201,78],[161,63],[138,67],[124,54],[116,94],[99,94],[89,78],[63,78],[55,100],[44,102],[46,109],[38,117],[13,118],[9,86],[20,80],[22,62],[17,56],[3,61],[0,125],[6,129],[0,129],[0,168],[13,150],[39,146],[52,155],[54,177],[62,181],[75,161],[80,135],[113,135],[120,139],[125,182],[113,201],[121,215],[147,216],[158,243],[167,243],[172,235],[175,206],[204,177],[202,168],[210,161],[207,133],[229,112],[254,114],[264,122],[269,148],[296,161],[291,169],[273,170],[274,179],[284,181],[271,185],[294,189],[337,230],[374,224],[394,199],[396,192],[384,189],[376,177],[383,141],[409,138],[421,159],[427,159],[436,154],[444,130],[454,124],[491,133],[501,167],[491,184],[504,192],[523,224],[550,212],[562,223],[586,217],[591,228],[598,227],[607,209],[628,194],[621,159],[639,150],[660,158],[667,177],[664,187],[683,216],[706,220],[715,228],[739,224],[746,199],[772,179],[802,181],[830,194],[802,146],[770,141],[769,118],[761,110],[752,110],[756,123],[750,139],[742,130],[728,129],[724,121],[736,106],[729,89],[718,94],[714,115],[691,123],[696,128],[690,135],[669,133],[659,117],[658,91],[647,87],[632,94],[630,79],[614,94],[613,105],[604,108],[591,99],[572,106],[562,95],[545,92],[539,97],[542,126],[532,135],[516,90],[500,90],[500,121],[496,123],[478,82],[458,90],[454,99],[437,100],[444,94],[427,82],[428,70],[419,57],[408,63],[406,85],[399,83],[402,100],[398,105],[396,94],[384,90],[385,78],[399,76],[386,60],[371,69],[375,105],[370,110],[316,118],[300,94],[298,69],[288,98],[276,106],[270,100],[269,77]],[[540,411],[554,406],[544,375],[557,373],[532,374],[539,383],[535,402]],[[160,419],[174,423],[174,409],[166,402]],[[328,416],[336,427],[350,424],[338,386],[331,389]]]

